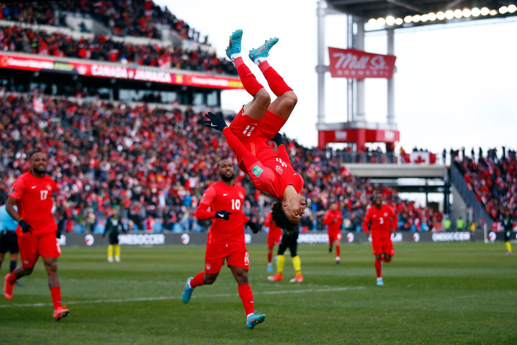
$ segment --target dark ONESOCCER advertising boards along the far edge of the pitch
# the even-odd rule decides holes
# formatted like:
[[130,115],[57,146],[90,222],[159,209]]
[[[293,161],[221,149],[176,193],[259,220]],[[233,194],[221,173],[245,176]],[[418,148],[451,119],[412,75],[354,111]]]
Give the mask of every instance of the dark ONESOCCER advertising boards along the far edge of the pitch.
[[[512,236],[516,236],[513,234]],[[120,245],[134,246],[162,246],[162,245],[205,245],[207,233],[130,233],[118,235]],[[245,234],[247,244],[266,244],[267,234]],[[513,238],[515,239],[515,238]],[[396,242],[468,242],[484,241],[482,232],[457,231],[457,232],[398,232],[392,235],[392,241]],[[488,242],[502,241],[503,233],[491,232],[488,234]],[[107,246],[108,237],[100,234],[63,234],[59,238],[61,246]],[[341,243],[366,243],[369,238],[363,232],[342,232]],[[311,231],[300,233],[298,243],[328,243],[328,235],[325,231]]]

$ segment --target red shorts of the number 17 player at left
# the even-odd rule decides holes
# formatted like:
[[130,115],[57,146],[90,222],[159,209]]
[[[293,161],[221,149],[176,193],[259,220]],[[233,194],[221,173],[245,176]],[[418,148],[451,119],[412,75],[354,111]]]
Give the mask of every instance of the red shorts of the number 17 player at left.
[[18,236],[18,247],[20,247],[20,259],[22,266],[32,268],[42,258],[59,258],[61,247],[57,243],[56,233],[49,232],[42,235]]

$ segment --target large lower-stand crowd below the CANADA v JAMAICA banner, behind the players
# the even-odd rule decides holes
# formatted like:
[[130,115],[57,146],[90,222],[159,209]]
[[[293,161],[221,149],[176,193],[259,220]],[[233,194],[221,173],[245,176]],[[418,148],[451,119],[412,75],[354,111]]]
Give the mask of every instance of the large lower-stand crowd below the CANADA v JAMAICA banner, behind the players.
[[[203,114],[191,108],[6,94],[0,104],[0,204],[26,171],[26,154],[45,147],[59,189],[58,218],[66,230],[101,231],[115,207],[133,230],[202,231],[207,224],[193,212],[206,186],[217,179],[217,161],[233,156],[221,136],[204,128]],[[306,181],[302,192],[310,207],[303,228],[323,229],[323,214],[335,200],[344,228],[360,230],[364,210],[380,187],[350,175],[326,152],[284,139]],[[270,201],[244,173],[237,173],[236,182],[247,190],[243,211],[263,223]],[[439,230],[441,213],[401,200],[394,189],[382,191],[399,214],[400,229]]]

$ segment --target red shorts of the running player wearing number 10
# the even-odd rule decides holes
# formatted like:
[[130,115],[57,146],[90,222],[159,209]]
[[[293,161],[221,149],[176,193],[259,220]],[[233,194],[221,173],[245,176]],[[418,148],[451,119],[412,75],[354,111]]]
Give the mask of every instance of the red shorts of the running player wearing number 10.
[[209,244],[206,246],[205,252],[205,273],[219,273],[224,259],[228,266],[250,268],[250,257],[245,245]]

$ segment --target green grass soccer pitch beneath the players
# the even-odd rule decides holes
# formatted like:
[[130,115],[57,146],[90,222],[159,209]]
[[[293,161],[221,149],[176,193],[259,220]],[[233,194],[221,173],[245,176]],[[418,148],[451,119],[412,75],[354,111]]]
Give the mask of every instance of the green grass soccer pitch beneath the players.
[[[302,283],[286,255],[283,282],[266,277],[266,246],[249,245],[255,309],[246,328],[226,267],[211,286],[181,292],[204,266],[204,246],[63,248],[59,275],[70,317],[52,319],[41,260],[12,301],[0,301],[0,343],[517,343],[517,258],[504,244],[399,243],[375,285],[369,244],[299,245]],[[6,274],[8,262],[0,273]]]

